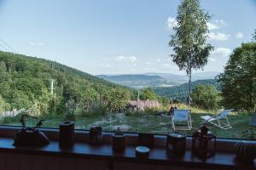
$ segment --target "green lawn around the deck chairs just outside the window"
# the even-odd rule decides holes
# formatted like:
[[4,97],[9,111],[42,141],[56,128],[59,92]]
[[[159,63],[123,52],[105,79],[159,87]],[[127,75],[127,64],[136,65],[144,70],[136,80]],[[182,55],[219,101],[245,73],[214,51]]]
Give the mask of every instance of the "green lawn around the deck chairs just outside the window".
[[[178,105],[178,108],[188,108],[185,105]],[[201,116],[211,115],[212,111],[204,111],[198,108],[191,108],[191,117],[193,129],[191,131],[182,131],[191,135],[202,122]],[[58,127],[59,122],[66,121],[63,116],[43,116],[45,119],[43,127]],[[256,127],[248,126],[251,116],[247,114],[231,114],[229,116],[232,128],[223,130],[207,124],[210,131],[220,138],[235,139],[256,139]],[[6,117],[0,121],[0,124],[20,125],[20,116]],[[27,119],[27,124],[33,126],[36,120]],[[125,132],[137,133],[161,133],[166,134],[172,132],[170,118],[165,118],[150,111],[149,113],[130,113],[130,114],[88,114],[78,115],[75,121],[76,128],[89,129],[92,126],[102,126],[105,131],[115,131],[118,127]]]

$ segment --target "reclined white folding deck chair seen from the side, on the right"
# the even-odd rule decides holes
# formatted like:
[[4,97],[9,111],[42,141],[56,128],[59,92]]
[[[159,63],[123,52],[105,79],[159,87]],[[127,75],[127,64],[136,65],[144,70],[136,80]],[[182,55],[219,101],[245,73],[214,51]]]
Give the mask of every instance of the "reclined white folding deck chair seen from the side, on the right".
[[233,109],[230,110],[224,110],[220,114],[215,116],[201,116],[201,118],[204,120],[200,124],[205,124],[207,122],[211,123],[212,125],[222,128],[222,129],[228,129],[232,128],[230,125],[230,121],[228,118],[228,115],[230,112],[233,111]]

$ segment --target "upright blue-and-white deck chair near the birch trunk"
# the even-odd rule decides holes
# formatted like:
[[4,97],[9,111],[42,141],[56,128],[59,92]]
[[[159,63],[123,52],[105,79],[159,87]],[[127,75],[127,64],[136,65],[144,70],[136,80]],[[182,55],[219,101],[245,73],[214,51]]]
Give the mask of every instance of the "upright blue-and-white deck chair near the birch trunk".
[[173,130],[191,130],[190,110],[175,109],[172,114],[172,128]]

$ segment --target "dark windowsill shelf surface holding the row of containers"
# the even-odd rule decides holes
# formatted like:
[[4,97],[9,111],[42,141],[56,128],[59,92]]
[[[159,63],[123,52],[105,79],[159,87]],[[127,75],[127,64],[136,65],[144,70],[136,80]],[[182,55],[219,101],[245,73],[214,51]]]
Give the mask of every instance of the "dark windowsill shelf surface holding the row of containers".
[[253,163],[241,163],[236,161],[236,156],[230,152],[218,152],[206,160],[202,160],[191,154],[187,150],[183,156],[167,154],[166,148],[156,147],[150,150],[147,159],[136,157],[135,147],[126,146],[124,153],[117,154],[112,150],[111,144],[90,145],[86,143],[75,143],[71,149],[61,149],[58,141],[51,141],[44,147],[15,147],[14,140],[10,138],[0,138],[0,151],[5,153],[32,154],[42,156],[79,157],[109,162],[131,162],[147,163],[156,165],[172,165],[181,167],[204,167],[204,168],[224,168],[224,169],[256,169],[256,161]]

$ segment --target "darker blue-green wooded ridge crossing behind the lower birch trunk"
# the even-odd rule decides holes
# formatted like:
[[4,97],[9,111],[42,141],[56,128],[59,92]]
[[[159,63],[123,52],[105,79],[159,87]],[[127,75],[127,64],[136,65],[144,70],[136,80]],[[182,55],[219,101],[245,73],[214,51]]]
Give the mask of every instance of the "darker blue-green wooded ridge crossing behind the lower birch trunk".
[[[220,85],[215,79],[197,80],[192,82],[192,89],[197,85],[213,85],[220,90]],[[160,96],[166,96],[169,99],[175,99],[185,102],[188,97],[189,83],[183,83],[179,86],[173,86],[171,88],[153,88],[154,93]]]

